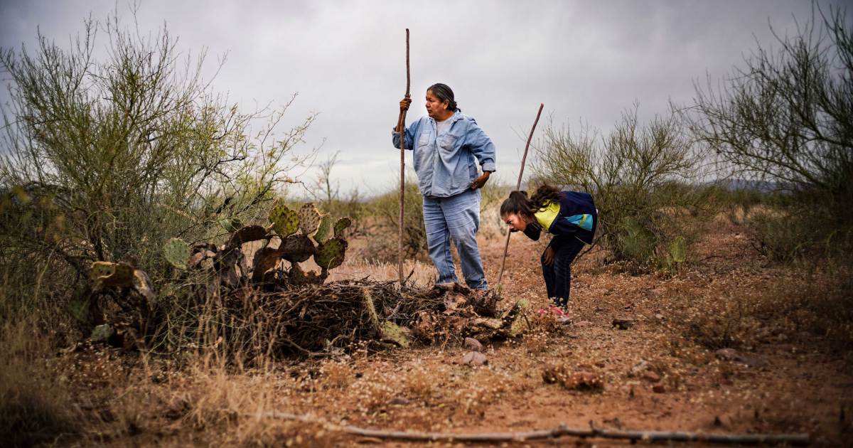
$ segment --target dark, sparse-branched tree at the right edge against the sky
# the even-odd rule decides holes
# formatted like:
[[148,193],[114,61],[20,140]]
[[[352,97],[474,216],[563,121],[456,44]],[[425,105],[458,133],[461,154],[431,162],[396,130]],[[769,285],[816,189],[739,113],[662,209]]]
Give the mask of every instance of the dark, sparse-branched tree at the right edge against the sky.
[[821,221],[853,218],[853,27],[843,9],[774,32],[717,89],[697,84],[694,135],[743,177],[809,196]]

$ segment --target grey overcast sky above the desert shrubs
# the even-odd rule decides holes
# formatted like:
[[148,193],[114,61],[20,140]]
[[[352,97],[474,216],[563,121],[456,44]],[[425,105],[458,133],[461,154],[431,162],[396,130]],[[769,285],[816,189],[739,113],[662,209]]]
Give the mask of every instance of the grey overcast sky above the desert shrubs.
[[[828,4],[837,3],[821,2]],[[0,0],[0,45],[32,49],[37,26],[66,43],[86,16],[103,20],[116,8],[131,23],[122,0]],[[769,24],[792,33],[795,18],[802,23],[811,9],[804,0],[142,0],[138,22],[152,32],[165,22],[183,52],[206,47],[211,70],[228,53],[214,87],[233,102],[281,105],[299,92],[285,125],[320,113],[302,150],[325,139],[319,159],[340,151],[333,176],[341,188],[369,195],[397,183],[390,131],[405,90],[406,27],[409,122],[426,114],[428,85],[449,84],[495,142],[498,178],[514,183],[525,144],[519,135],[540,102],[556,123],[583,120],[605,131],[634,102],[641,117],[666,113],[670,99],[691,100],[694,80],[725,76],[756,42],[775,44]]]

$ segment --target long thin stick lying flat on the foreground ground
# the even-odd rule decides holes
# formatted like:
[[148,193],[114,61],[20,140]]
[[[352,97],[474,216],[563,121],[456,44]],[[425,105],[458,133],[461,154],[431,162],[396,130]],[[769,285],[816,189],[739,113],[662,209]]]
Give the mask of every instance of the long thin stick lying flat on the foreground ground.
[[335,425],[311,416],[299,416],[286,412],[264,412],[249,414],[258,418],[277,418],[322,425],[332,431],[348,433],[362,437],[377,439],[407,440],[410,442],[455,441],[455,442],[516,442],[535,439],[555,439],[562,436],[601,439],[628,439],[632,442],[641,440],[649,442],[705,442],[717,444],[739,445],[809,445],[809,434],[720,434],[720,433],[685,433],[666,431],[621,431],[612,429],[589,428],[576,429],[560,425],[553,429],[540,429],[519,433],[407,433],[403,431],[386,431],[383,429],[359,428],[351,425]]

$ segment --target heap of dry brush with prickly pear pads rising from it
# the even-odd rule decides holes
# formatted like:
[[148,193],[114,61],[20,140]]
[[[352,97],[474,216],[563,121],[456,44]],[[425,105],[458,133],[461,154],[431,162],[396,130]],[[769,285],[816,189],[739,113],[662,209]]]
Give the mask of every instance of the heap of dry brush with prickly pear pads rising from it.
[[[94,263],[90,311],[97,311],[98,324],[90,339],[155,353],[222,347],[256,359],[328,355],[364,342],[445,344],[519,332],[514,323],[524,304],[499,312],[493,291],[458,284],[401,287],[367,278],[325,282],[343,262],[348,219],[333,226],[310,203],[298,212],[281,203],[270,221],[241,227],[219,246],[167,242],[164,258],[176,275],[159,293],[132,265]],[[253,241],[263,247],[247,246]],[[311,257],[319,273],[299,265]],[[97,305],[104,300],[113,306]],[[107,308],[114,310],[109,317],[102,311]]]

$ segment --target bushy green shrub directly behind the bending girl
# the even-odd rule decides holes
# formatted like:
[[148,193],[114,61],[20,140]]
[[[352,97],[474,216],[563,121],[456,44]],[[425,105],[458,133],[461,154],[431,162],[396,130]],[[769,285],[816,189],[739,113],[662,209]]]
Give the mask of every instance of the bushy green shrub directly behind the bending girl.
[[693,224],[712,212],[711,189],[693,184],[705,177],[705,154],[674,115],[644,124],[636,107],[628,109],[607,135],[550,124],[538,146],[536,177],[593,195],[596,241],[615,261],[668,267],[684,261]]

